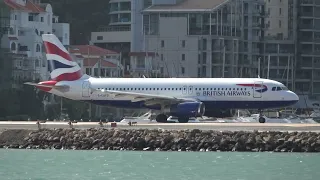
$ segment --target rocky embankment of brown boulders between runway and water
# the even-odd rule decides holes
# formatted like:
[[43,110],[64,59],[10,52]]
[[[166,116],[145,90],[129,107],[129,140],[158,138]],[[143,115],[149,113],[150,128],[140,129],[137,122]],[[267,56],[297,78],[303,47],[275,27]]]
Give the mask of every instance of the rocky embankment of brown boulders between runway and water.
[[149,129],[6,130],[0,148],[320,152],[320,133]]

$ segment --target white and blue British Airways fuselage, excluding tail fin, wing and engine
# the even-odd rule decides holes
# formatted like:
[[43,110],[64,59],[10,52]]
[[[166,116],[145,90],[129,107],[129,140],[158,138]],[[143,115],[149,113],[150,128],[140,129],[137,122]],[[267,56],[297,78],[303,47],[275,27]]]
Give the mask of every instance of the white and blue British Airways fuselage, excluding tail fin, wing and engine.
[[67,85],[70,89],[64,93],[53,89],[50,93],[73,100],[123,108],[161,110],[161,106],[148,106],[143,100],[134,102],[130,96],[117,97],[101,90],[197,99],[205,104],[207,110],[281,108],[293,105],[299,100],[298,96],[282,83],[260,78],[90,77],[76,81],[61,81],[56,85]]

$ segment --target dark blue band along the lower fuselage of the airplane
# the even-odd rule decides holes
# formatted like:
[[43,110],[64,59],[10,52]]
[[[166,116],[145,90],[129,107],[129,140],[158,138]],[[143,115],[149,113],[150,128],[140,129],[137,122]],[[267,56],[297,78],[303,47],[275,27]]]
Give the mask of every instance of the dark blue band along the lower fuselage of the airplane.
[[[148,108],[160,110],[159,105],[145,106],[144,102],[131,102],[125,100],[93,100],[86,101],[101,106],[119,108]],[[202,101],[206,109],[272,109],[291,106],[297,101]]]

